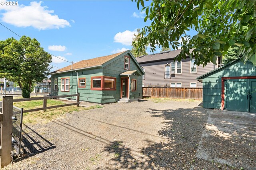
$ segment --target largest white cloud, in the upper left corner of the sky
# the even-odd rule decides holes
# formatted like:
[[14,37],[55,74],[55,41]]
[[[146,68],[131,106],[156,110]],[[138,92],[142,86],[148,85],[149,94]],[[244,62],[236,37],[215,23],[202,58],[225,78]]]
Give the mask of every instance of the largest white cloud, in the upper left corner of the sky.
[[[3,1],[6,3],[6,1]],[[47,6],[41,6],[43,2],[30,2],[28,6],[0,6],[4,10],[1,20],[16,27],[34,27],[39,30],[59,29],[70,26],[67,20],[60,19],[53,14],[54,10],[48,10]]]

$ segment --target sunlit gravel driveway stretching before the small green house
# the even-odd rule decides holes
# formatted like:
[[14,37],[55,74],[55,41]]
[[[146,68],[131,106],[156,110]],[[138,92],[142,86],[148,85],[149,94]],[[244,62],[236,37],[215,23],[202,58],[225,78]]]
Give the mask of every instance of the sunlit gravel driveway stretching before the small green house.
[[24,125],[29,154],[7,169],[236,169],[196,158],[208,120],[200,103],[114,103]]

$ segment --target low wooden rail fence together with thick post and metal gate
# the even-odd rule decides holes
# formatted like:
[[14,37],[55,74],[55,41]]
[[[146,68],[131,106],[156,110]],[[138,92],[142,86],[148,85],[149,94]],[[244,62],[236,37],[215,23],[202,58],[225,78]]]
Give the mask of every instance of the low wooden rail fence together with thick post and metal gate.
[[[49,106],[47,107],[48,99],[57,99],[57,98],[67,98],[76,96],[76,102],[70,104],[62,104],[58,106]],[[62,96],[44,96],[44,97],[35,97],[35,98],[26,98],[26,99],[13,99],[13,96],[2,96],[2,102],[0,102],[0,164],[1,167],[4,167],[11,162],[11,156],[14,154],[20,155],[25,152],[21,151],[21,141],[22,141],[22,119],[23,113],[39,111],[46,109],[53,109],[58,107],[80,106],[80,94],[72,95],[62,95]],[[13,106],[13,102],[24,102],[32,100],[44,100],[43,107],[36,109],[27,109],[19,108]],[[12,151],[12,148],[16,150],[16,153]]]

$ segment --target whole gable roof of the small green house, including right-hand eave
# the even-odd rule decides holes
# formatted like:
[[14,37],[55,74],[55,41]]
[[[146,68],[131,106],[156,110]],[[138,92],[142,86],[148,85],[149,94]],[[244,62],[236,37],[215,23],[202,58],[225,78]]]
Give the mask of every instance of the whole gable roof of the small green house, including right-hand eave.
[[69,65],[64,68],[60,68],[56,71],[50,72],[50,74],[58,74],[62,72],[90,69],[90,68],[103,68],[104,66],[112,63],[114,60],[118,59],[119,57],[122,57],[127,54],[131,56],[131,58],[134,60],[134,62],[136,63],[136,65],[138,66],[142,74],[145,74],[145,72],[142,70],[142,68],[140,67],[140,64],[136,61],[136,59],[134,58],[130,50],[112,54],[112,55],[103,56],[103,57],[97,57],[94,59],[82,60],[77,63],[74,63],[73,66]]

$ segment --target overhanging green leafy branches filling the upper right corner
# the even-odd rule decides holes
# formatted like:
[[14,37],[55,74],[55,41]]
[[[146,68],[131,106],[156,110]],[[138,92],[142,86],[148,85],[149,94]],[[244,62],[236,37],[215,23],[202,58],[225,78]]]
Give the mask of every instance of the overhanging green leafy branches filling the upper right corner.
[[[189,55],[190,59],[195,57],[195,64],[204,66],[208,62],[216,64],[218,56],[225,55],[230,47],[238,47],[242,61],[256,65],[256,1],[152,0],[149,6],[143,0],[135,2],[146,13],[144,21],[151,22],[133,42],[138,50],[148,45],[151,51],[156,46],[181,46],[178,61]],[[198,34],[190,37],[187,31],[191,29]]]

